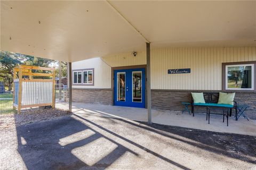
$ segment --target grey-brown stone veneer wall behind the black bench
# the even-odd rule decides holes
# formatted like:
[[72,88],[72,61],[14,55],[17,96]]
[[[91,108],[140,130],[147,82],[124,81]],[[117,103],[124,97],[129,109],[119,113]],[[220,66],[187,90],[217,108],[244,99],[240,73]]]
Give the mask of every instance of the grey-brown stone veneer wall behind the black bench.
[[[191,103],[191,92],[219,92],[219,91],[198,91],[198,90],[154,90],[151,89],[151,107],[158,109],[168,109],[171,111],[182,111],[184,106],[181,101]],[[251,119],[256,119],[256,93],[236,92],[235,101],[238,104],[249,105],[245,114]],[[189,107],[191,110],[191,107]],[[215,111],[218,111],[215,109]],[[214,111],[214,112],[215,112]],[[195,107],[195,113],[206,113],[205,107]],[[235,111],[233,111],[233,114]]]

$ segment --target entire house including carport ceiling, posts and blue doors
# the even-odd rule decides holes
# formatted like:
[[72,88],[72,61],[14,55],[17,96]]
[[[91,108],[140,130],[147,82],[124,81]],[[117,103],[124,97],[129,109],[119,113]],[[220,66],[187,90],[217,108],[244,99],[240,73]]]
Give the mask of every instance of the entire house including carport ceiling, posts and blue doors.
[[[255,1],[3,1],[1,50],[68,62],[72,101],[181,110],[235,91],[256,118]],[[26,11],[26,12],[24,12]]]

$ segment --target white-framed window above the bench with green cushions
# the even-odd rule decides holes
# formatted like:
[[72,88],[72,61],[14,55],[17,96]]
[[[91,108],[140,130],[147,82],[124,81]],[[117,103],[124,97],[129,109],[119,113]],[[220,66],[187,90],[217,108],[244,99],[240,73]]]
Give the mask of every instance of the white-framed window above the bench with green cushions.
[[254,90],[254,64],[226,65],[226,90]]

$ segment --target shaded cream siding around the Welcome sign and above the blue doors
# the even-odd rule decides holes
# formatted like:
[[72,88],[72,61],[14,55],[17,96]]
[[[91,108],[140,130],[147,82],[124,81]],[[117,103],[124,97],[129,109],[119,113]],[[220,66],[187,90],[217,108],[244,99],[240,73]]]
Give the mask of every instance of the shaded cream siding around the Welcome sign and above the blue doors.
[[[146,64],[146,52],[102,57],[112,67]],[[179,47],[151,49],[151,88],[221,90],[221,63],[256,61],[256,47]],[[190,74],[167,74],[191,68]]]

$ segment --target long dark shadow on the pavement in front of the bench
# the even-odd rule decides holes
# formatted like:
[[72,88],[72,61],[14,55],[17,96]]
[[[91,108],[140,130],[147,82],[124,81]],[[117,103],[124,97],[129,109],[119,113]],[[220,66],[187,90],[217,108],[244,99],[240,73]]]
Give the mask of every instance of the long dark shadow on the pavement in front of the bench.
[[[97,112],[99,114],[104,115],[103,112],[98,112],[95,110],[93,112]],[[162,125],[157,123],[148,124],[147,122],[134,121],[144,125],[142,126],[135,124],[132,121],[127,121],[120,118],[113,119],[131,124],[132,126],[136,126],[147,131],[155,132],[170,139],[185,142],[188,145],[195,146],[197,148],[204,149],[215,154],[226,155],[231,158],[244,160],[245,162],[256,164],[256,136],[220,133],[205,130],[182,128],[179,126]],[[180,137],[184,137],[185,139],[189,140],[177,138],[177,136],[170,134],[176,134]],[[248,156],[253,157],[253,159],[250,159]]]

